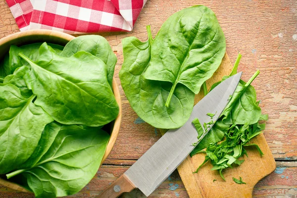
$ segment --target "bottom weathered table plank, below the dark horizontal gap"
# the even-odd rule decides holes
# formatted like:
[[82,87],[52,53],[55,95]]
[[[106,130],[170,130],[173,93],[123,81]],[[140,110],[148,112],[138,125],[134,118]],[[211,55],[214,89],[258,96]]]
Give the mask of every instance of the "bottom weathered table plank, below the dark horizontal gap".
[[[88,198],[99,195],[118,177],[129,165],[102,165],[93,180],[77,195],[69,198]],[[0,186],[1,198],[33,198],[33,195],[16,193],[6,187]],[[253,197],[297,196],[297,162],[277,162],[277,169],[260,181],[253,190]],[[124,194],[121,198],[146,198],[140,190]],[[186,189],[177,171],[174,171],[148,198],[188,198]]]

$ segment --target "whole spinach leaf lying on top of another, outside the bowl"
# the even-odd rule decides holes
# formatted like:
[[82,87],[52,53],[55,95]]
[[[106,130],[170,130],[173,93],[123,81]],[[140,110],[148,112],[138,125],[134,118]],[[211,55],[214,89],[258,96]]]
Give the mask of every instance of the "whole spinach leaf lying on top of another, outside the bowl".
[[198,94],[219,67],[225,50],[225,37],[213,11],[203,5],[185,8],[170,16],[156,35],[144,77],[172,83],[168,107],[178,84]]

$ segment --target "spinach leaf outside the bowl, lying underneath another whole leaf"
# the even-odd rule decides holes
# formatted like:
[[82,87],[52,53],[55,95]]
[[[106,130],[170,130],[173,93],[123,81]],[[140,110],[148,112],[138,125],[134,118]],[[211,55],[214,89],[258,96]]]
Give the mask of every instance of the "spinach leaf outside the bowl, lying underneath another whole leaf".
[[179,84],[169,107],[166,107],[171,83],[144,78],[153,42],[149,26],[147,29],[147,42],[140,42],[135,37],[128,37],[122,41],[124,63],[119,73],[121,84],[131,107],[141,119],[155,128],[179,128],[191,115],[195,94]]

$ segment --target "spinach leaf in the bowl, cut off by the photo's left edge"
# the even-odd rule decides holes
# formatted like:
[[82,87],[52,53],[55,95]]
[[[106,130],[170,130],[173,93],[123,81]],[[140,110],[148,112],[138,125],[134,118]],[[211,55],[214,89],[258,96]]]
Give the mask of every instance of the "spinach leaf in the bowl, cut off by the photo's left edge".
[[35,98],[23,98],[12,85],[0,85],[0,174],[18,168],[33,153],[45,126],[53,119]]

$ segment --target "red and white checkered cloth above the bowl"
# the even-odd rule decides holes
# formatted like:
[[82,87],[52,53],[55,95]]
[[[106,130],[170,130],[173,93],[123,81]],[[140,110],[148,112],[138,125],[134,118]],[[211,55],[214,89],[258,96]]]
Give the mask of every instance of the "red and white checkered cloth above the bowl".
[[127,32],[147,0],[6,0],[20,31]]

